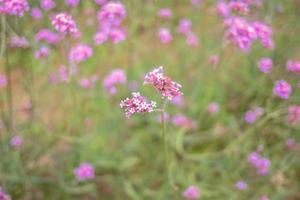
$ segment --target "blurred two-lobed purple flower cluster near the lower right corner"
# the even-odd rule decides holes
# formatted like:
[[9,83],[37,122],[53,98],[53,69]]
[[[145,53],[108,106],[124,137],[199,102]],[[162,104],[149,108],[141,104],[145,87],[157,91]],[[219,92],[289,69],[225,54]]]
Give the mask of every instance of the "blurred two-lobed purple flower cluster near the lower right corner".
[[256,168],[257,174],[261,176],[268,174],[271,162],[267,158],[262,157],[259,153],[250,153],[248,156],[248,162]]

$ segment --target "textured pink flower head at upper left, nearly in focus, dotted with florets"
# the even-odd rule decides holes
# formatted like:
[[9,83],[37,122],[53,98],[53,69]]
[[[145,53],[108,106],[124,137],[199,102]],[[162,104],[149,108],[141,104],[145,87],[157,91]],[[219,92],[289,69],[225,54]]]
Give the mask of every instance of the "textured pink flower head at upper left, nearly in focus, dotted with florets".
[[52,19],[52,25],[61,33],[76,33],[77,26],[71,15],[59,13]]

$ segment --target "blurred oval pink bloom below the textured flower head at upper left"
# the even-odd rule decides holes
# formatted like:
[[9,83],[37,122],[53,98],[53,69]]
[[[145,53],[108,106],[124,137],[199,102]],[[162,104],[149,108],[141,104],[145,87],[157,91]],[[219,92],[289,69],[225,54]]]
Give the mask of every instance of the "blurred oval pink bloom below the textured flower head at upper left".
[[86,44],[79,44],[73,47],[69,53],[69,62],[81,63],[92,57],[93,49]]

